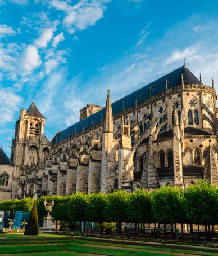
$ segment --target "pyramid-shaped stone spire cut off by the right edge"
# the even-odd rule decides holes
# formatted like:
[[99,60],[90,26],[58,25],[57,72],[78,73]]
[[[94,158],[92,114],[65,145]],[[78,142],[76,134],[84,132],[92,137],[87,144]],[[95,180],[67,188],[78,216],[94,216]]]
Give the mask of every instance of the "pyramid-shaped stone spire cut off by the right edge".
[[212,185],[218,185],[218,163],[209,140],[209,148],[203,172],[203,179],[208,180]]

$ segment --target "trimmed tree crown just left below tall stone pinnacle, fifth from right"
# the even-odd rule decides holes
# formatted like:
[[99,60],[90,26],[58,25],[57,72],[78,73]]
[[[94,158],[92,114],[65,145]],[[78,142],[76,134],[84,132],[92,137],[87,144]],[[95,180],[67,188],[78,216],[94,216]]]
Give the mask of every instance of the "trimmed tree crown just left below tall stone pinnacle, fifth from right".
[[85,213],[87,219],[93,222],[103,222],[105,220],[104,210],[107,201],[107,196],[101,192],[92,193],[89,196]]

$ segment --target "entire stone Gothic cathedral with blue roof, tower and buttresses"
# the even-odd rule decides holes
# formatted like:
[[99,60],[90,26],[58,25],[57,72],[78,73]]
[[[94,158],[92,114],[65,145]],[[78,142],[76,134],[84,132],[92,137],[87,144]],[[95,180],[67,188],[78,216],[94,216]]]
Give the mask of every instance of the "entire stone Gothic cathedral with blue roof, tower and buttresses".
[[108,91],[105,107],[80,109],[80,120],[51,141],[33,101],[20,111],[11,160],[0,150],[0,200],[184,188],[199,179],[218,186],[216,99],[214,81],[204,85],[184,64],[112,104]]

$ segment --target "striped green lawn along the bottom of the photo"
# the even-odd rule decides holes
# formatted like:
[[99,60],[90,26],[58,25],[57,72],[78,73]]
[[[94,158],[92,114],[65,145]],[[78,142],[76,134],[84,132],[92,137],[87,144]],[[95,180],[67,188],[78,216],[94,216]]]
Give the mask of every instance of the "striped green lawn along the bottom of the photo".
[[0,234],[0,255],[218,255],[218,249],[200,248],[197,246],[178,246],[167,244],[143,245],[122,244],[121,241],[108,242],[89,239],[88,237],[72,237],[65,235],[40,234],[25,236]]

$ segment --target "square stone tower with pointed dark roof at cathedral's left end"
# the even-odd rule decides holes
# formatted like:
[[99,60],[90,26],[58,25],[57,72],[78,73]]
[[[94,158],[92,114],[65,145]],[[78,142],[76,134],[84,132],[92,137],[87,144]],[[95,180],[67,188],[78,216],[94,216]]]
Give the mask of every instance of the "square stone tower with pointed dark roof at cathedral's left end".
[[15,165],[13,178],[16,178],[12,198],[36,195],[38,169],[50,150],[50,142],[44,136],[45,121],[34,101],[27,111],[24,108],[20,111],[11,146],[11,161]]

